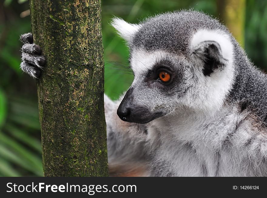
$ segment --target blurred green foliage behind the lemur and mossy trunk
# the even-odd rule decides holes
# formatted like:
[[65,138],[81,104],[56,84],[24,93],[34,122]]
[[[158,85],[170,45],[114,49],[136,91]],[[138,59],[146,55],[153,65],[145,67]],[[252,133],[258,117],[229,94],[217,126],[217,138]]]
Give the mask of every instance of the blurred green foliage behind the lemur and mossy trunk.
[[[128,49],[109,25],[113,16],[130,23],[161,12],[194,8],[215,17],[214,0],[102,0],[105,92],[112,99],[128,89],[133,76],[121,71],[128,65]],[[30,32],[27,0],[0,3],[0,176],[42,176],[40,126],[35,80],[19,69],[19,35]],[[267,68],[267,1],[246,0],[245,50],[252,61]]]

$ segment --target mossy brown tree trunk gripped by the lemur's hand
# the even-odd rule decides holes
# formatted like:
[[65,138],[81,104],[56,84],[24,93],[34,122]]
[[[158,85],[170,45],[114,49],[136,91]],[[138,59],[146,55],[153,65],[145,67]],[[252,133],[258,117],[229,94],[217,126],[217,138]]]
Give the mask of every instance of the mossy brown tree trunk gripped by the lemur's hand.
[[100,0],[30,0],[44,176],[108,176]]

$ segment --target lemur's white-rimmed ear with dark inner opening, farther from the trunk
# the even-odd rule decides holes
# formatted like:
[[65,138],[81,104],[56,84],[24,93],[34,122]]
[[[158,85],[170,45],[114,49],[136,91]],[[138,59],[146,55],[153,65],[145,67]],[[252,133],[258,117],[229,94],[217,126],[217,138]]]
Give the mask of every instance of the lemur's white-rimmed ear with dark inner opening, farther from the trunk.
[[199,31],[192,39],[193,54],[201,61],[203,74],[210,76],[232,63],[232,43],[228,35],[212,31]]

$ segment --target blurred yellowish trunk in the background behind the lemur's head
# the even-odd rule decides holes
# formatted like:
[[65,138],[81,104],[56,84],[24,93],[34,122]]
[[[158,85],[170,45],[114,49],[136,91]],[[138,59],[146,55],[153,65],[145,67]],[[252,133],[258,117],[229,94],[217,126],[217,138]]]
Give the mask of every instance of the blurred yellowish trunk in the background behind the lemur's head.
[[245,8],[245,0],[217,0],[219,18],[242,47],[245,44]]

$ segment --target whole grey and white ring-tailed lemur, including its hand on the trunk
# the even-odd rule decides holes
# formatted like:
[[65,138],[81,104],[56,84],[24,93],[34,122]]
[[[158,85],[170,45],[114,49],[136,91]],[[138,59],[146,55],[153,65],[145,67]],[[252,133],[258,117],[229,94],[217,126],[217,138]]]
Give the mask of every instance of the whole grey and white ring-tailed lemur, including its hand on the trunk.
[[[130,48],[134,81],[118,109],[105,96],[111,170],[267,176],[267,78],[224,25],[197,11],[112,25]],[[22,51],[22,70],[38,77],[39,46]]]

